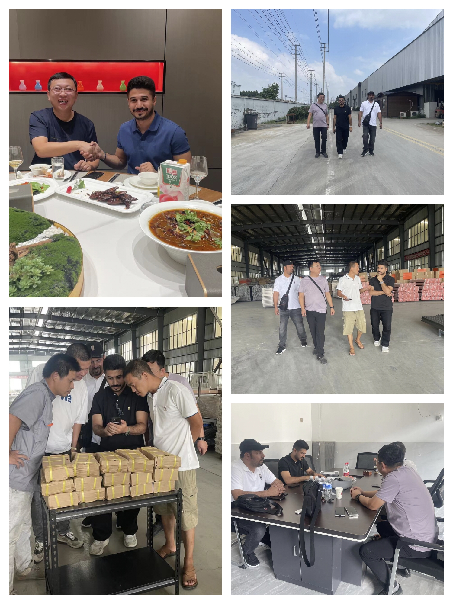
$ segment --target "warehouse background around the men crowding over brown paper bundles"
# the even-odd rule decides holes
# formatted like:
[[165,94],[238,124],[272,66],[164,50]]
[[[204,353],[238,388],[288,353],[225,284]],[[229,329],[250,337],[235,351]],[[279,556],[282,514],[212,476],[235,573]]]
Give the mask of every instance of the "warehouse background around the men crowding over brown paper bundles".
[[[188,379],[198,399],[208,450],[198,454],[199,521],[196,529],[194,567],[198,586],[180,594],[222,593],[222,539],[220,493],[222,486],[222,307],[10,307],[9,317],[10,404],[25,388],[30,371],[52,355],[65,352],[72,342],[100,342],[104,356],[119,353],[127,361],[141,358],[148,350],[164,352],[170,373]],[[197,452],[198,453],[198,452]],[[115,518],[115,516],[114,516]],[[71,530],[83,548],[59,544],[59,564],[75,564],[90,558],[91,528],[81,519],[71,521]],[[138,515],[138,547],[146,547],[146,508]],[[31,535],[32,551],[34,536]],[[165,542],[159,533],[153,542]],[[123,533],[115,531],[103,556],[125,551]],[[181,545],[181,556],[184,555]],[[169,564],[174,568],[175,558]],[[44,564],[41,562],[40,564]],[[17,594],[45,594],[45,581],[14,583]],[[64,592],[63,592],[64,593]],[[143,594],[173,594],[173,587]]]

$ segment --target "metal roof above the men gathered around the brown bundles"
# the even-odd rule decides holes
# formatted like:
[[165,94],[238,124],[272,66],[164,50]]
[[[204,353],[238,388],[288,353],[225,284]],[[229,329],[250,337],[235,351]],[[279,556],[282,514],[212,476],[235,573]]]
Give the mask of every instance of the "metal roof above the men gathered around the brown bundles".
[[172,309],[10,306],[10,353],[54,354],[76,341],[106,342]]

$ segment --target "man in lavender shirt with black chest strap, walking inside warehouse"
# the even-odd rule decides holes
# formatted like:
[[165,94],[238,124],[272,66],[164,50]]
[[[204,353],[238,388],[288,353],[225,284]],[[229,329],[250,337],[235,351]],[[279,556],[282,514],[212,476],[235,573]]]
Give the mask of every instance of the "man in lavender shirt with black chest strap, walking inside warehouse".
[[324,329],[326,328],[327,306],[330,315],[335,315],[332,296],[326,277],[321,277],[321,265],[318,260],[308,263],[310,275],[304,277],[299,286],[299,303],[302,316],[307,317],[310,333],[313,339],[313,355],[322,365],[326,365],[324,358]]

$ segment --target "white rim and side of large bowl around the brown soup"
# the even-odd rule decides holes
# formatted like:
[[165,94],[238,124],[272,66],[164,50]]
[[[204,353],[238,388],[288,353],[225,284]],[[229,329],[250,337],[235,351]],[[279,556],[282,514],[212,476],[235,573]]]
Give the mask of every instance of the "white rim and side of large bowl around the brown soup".
[[187,254],[218,254],[221,252],[221,249],[216,249],[211,252],[195,252],[191,249],[181,249],[175,248],[174,245],[170,245],[170,243],[165,243],[155,237],[153,233],[151,233],[150,228],[148,226],[149,221],[153,216],[159,214],[161,212],[165,212],[167,210],[199,210],[202,212],[211,212],[211,214],[216,214],[216,216],[222,216],[222,208],[219,208],[217,205],[210,204],[210,207],[207,207],[207,203],[205,201],[167,201],[165,204],[154,204],[150,205],[148,208],[143,210],[139,217],[140,228],[145,235],[147,235],[153,242],[158,243],[163,248],[166,249],[169,256],[183,264],[185,266],[185,262],[187,259]]

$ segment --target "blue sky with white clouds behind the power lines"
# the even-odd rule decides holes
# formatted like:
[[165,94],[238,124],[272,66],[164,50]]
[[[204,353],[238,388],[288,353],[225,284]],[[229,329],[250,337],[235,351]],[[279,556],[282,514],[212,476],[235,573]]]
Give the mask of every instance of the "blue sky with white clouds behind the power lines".
[[[419,36],[440,11],[440,8],[330,9],[329,96],[335,98],[355,88],[358,82]],[[327,10],[316,10],[316,13],[321,42],[327,43]],[[286,94],[294,100],[294,56],[291,56],[289,47],[296,40],[304,56],[304,59],[299,57],[297,97],[301,100],[304,88],[306,101],[310,89],[307,85],[307,68],[315,70],[318,92],[323,81],[323,64],[313,10],[232,10],[231,80],[240,84],[241,90],[261,91],[263,86],[274,82],[280,85],[278,72],[284,72],[283,98]],[[329,74],[327,58],[326,54],[326,79]],[[262,71],[247,62],[259,66]]]

